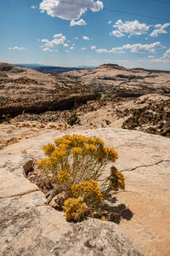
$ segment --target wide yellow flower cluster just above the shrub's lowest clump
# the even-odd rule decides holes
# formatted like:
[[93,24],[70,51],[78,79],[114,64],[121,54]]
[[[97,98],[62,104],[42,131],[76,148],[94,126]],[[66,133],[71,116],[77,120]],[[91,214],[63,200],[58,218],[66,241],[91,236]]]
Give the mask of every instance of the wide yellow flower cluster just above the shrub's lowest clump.
[[75,197],[84,197],[85,201],[103,201],[101,192],[99,191],[99,183],[93,179],[90,179],[84,183],[73,184],[71,186],[71,193]]

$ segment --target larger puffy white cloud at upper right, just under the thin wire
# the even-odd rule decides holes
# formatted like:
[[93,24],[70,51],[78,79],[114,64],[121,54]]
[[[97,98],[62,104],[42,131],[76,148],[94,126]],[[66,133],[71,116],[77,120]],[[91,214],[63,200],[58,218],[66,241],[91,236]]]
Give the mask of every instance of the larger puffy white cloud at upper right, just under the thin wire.
[[116,25],[113,25],[113,27],[116,27],[119,32],[129,33],[130,35],[142,35],[150,29],[150,26],[147,26],[145,23],[139,23],[139,20],[125,22],[117,20]]

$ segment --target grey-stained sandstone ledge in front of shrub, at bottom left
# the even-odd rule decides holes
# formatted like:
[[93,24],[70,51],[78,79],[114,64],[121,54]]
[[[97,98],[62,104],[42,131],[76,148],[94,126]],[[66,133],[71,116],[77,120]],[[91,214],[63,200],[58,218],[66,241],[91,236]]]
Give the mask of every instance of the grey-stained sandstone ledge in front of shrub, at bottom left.
[[142,256],[116,224],[97,219],[69,224],[42,192],[1,200],[1,255]]

